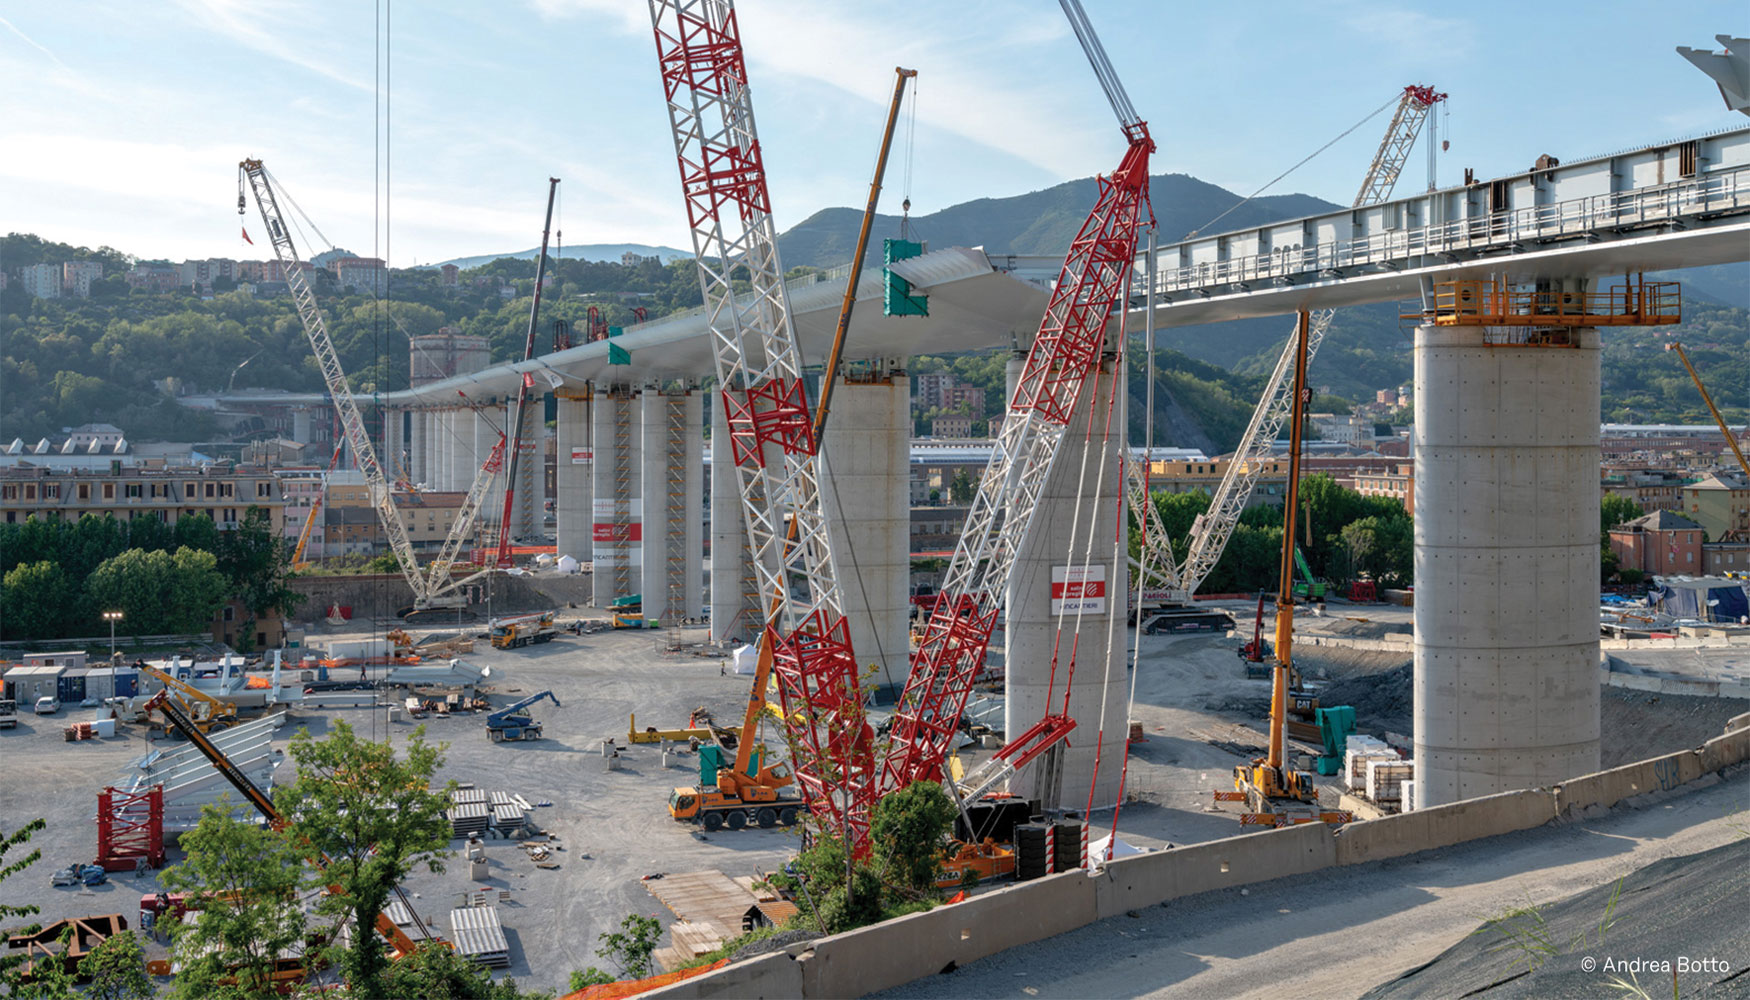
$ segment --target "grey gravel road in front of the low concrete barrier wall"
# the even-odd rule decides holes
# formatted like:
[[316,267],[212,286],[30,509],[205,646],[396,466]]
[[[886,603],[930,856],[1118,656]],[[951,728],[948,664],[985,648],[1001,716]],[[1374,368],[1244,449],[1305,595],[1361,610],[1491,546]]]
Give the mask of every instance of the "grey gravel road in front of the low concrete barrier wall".
[[[1664,858],[1743,844],[1746,807],[1750,771],[1740,765],[1726,781],[1592,821],[1171,900],[877,996],[1358,996],[1437,958],[1507,909],[1552,904]],[[1736,905],[1736,935],[1727,932],[1732,953],[1720,958],[1741,970],[1750,965],[1750,939],[1741,897]],[[1650,930],[1659,949],[1687,944]],[[1664,930],[1680,932],[1676,925]],[[1586,954],[1566,949],[1550,960],[1552,970],[1573,968]],[[1745,979],[1703,995],[1741,996]],[[1589,996],[1622,995],[1603,974],[1594,982]],[[1446,981],[1414,991],[1458,993]],[[1652,995],[1661,995],[1657,986]]]

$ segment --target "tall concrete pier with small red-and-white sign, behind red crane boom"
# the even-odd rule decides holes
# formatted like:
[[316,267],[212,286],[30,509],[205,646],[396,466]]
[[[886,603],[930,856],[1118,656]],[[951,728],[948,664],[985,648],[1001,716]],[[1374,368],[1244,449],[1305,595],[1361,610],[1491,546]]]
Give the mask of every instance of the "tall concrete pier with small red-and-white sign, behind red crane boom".
[[[1076,729],[1069,734],[1069,748],[1062,750],[1059,792],[1055,797],[1050,793],[1052,776],[1041,772],[1041,762],[1050,757],[1040,758],[1010,779],[1010,792],[1029,799],[1040,797],[1046,809],[1085,809],[1090,786],[1094,809],[1111,807],[1118,800],[1118,771],[1129,723],[1125,713],[1129,632],[1122,597],[1129,592],[1130,571],[1127,550],[1120,545],[1116,553],[1113,552],[1124,496],[1120,457],[1125,445],[1125,396],[1120,382],[1116,408],[1108,419],[1111,368],[1111,363],[1102,363],[1082,389],[1082,405],[1064,431],[1057,461],[1040,490],[1031,531],[1017,553],[1006,599],[1003,658],[1008,673],[1004,725],[1010,737],[1026,732],[1045,715],[1062,711],[1064,685],[1071,683],[1071,646],[1074,646],[1069,718],[1076,720]],[[1088,440],[1090,419],[1092,440]],[[1094,448],[1094,454],[1087,457],[1083,480],[1082,455],[1088,448]],[[1085,496],[1078,506],[1076,494],[1082,489]],[[1096,581],[1097,595],[1092,587]],[[1074,613],[1059,615],[1054,594],[1057,601],[1083,601],[1080,622]],[[1064,629],[1060,644],[1059,625]],[[1080,637],[1071,643],[1071,636],[1076,634]]]

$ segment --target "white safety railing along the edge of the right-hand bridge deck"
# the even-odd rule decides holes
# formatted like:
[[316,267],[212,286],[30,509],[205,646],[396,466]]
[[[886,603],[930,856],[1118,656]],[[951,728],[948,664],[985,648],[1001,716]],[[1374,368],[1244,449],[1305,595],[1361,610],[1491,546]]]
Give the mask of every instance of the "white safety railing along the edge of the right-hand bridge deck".
[[[1479,252],[1522,249],[1587,238],[1592,233],[1622,233],[1710,214],[1750,212],[1750,166],[1734,166],[1657,187],[1592,194],[1526,208],[1479,214],[1432,226],[1390,229],[1353,240],[1311,247],[1281,247],[1223,261],[1157,271],[1160,294],[1195,292],[1214,285],[1250,282],[1295,284],[1307,277],[1340,277],[1349,268],[1404,268],[1428,257],[1456,259]],[[1209,240],[1194,240],[1209,245]],[[1220,245],[1220,243],[1216,243]],[[1171,256],[1172,247],[1164,247]]]

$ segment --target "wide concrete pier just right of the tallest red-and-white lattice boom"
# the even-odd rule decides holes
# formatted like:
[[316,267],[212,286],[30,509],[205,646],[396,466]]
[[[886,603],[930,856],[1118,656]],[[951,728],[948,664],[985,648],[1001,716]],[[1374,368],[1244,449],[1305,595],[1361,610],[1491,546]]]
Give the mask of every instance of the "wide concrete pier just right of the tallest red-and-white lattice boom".
[[850,646],[859,664],[880,667],[870,683],[894,688],[905,687],[910,671],[908,396],[905,373],[882,382],[840,380],[821,448],[821,501]]

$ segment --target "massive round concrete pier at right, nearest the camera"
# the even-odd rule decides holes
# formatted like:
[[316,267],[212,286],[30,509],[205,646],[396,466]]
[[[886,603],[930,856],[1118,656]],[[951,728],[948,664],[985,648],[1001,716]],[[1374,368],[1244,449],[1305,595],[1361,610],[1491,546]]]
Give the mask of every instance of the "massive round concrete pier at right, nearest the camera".
[[1598,331],[1416,331],[1416,802],[1598,771]]

